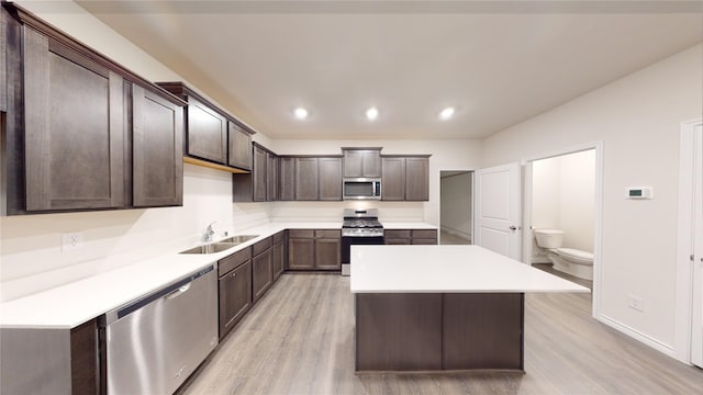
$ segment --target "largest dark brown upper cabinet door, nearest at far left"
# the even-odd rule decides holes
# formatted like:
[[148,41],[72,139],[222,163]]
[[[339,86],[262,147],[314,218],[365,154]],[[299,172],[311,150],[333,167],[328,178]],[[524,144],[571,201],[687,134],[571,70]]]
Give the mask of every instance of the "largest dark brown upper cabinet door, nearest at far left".
[[26,211],[124,205],[122,78],[24,29]]

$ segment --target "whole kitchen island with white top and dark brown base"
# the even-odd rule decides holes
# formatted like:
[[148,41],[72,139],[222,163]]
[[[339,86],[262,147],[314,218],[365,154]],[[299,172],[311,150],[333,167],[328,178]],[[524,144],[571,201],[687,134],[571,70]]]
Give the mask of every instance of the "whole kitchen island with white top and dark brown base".
[[590,292],[479,246],[353,246],[357,372],[524,370],[526,292]]

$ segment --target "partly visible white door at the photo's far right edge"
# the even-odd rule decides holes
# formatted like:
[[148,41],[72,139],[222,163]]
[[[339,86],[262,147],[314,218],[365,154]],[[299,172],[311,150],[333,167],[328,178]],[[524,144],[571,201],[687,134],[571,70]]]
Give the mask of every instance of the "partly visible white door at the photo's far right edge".
[[703,124],[694,133],[693,182],[693,308],[691,363],[703,368]]

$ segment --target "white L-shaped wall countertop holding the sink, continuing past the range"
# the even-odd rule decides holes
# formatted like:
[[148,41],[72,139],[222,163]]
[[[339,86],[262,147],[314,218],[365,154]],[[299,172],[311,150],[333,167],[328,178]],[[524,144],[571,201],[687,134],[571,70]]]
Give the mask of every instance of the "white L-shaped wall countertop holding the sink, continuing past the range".
[[[402,228],[409,229],[431,226],[423,223],[402,223]],[[180,255],[174,251],[37,294],[0,303],[0,328],[75,328],[280,230],[341,228],[342,222],[281,222],[248,228],[230,236],[259,236],[223,252]]]

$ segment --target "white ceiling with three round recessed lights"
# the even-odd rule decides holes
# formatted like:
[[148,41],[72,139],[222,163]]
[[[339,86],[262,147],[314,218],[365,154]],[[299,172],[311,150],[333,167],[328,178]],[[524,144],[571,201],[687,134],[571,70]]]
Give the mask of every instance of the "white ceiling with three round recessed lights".
[[694,2],[78,3],[272,138],[481,138],[703,41]]

